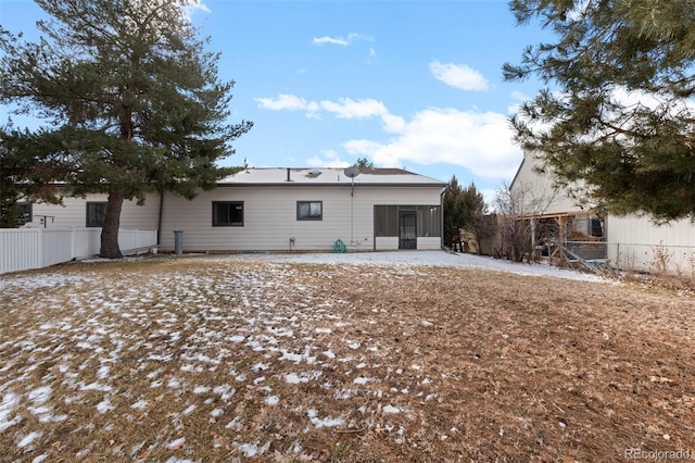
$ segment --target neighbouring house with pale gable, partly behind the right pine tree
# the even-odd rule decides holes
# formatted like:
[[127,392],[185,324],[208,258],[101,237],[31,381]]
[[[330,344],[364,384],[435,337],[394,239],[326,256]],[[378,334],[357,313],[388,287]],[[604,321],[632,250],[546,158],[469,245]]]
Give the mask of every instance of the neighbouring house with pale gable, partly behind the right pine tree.
[[695,224],[682,220],[658,226],[648,216],[636,214],[599,217],[591,207],[577,205],[564,189],[555,188],[549,175],[538,172],[539,165],[533,153],[525,153],[510,185],[511,197],[525,199],[523,215],[533,217],[542,230],[534,239],[543,239],[539,235],[545,232],[554,233],[559,241],[601,240],[606,243],[602,256],[614,266],[646,272],[654,270],[660,248],[671,254],[673,265],[679,265],[675,270],[683,272],[690,263],[694,272]]

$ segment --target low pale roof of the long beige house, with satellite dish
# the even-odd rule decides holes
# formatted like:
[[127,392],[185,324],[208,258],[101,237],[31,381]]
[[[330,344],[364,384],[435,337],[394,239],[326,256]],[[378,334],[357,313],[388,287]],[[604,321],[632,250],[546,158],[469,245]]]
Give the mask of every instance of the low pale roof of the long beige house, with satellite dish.
[[345,168],[249,167],[220,179],[219,186],[409,186],[445,187],[446,183],[402,168],[361,168],[354,178],[345,175]]

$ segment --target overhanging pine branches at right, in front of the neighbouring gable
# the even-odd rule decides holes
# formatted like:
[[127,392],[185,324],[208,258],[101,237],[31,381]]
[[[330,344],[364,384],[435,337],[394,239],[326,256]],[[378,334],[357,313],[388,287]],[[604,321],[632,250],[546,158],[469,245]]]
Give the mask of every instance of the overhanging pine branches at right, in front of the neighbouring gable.
[[557,41],[530,46],[507,80],[546,88],[513,117],[517,140],[578,199],[657,221],[695,218],[695,3],[514,0]]

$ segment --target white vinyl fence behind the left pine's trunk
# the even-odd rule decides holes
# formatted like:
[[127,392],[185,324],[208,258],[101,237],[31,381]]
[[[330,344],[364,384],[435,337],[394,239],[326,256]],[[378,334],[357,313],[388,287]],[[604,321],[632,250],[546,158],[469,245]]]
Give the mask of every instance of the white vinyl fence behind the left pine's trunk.
[[[101,228],[0,228],[0,274],[41,268],[99,253]],[[118,230],[121,251],[156,247],[156,232]]]

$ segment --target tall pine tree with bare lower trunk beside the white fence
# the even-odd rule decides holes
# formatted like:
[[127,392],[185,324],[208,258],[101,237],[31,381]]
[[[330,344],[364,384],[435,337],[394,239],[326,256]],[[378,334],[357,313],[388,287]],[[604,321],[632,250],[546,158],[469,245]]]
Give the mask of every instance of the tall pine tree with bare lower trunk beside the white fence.
[[51,121],[30,136],[62,158],[70,195],[106,193],[101,255],[121,256],[124,200],[192,198],[232,170],[216,162],[252,123],[229,124],[233,82],[218,79],[189,0],[36,0],[38,42],[0,30],[0,102]]

